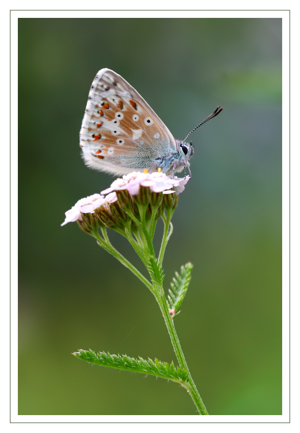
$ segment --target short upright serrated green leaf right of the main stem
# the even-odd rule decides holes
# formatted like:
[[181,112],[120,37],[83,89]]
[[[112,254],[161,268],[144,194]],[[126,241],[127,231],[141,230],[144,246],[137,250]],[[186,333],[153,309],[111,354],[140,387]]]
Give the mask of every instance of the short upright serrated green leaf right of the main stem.
[[175,312],[177,312],[180,307],[191,279],[192,269],[193,265],[191,263],[186,263],[186,265],[181,266],[180,275],[178,272],[175,273],[175,277],[171,283],[171,289],[169,289],[167,301],[170,310],[175,310]]

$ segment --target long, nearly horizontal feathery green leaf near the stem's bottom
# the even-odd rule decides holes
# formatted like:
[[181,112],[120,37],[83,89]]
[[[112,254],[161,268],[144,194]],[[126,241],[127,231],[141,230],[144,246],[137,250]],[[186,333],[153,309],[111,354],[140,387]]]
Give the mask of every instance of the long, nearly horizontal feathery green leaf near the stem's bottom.
[[92,350],[86,351],[82,349],[78,352],[74,352],[72,355],[80,360],[104,367],[118,368],[119,370],[133,371],[135,373],[152,374],[153,376],[163,377],[164,379],[180,382],[181,384],[187,381],[186,370],[176,367],[173,361],[171,364],[168,364],[167,362],[161,362],[157,359],[153,361],[150,358],[144,360],[139,357],[137,360],[127,355],[111,355],[105,352],[96,354]]

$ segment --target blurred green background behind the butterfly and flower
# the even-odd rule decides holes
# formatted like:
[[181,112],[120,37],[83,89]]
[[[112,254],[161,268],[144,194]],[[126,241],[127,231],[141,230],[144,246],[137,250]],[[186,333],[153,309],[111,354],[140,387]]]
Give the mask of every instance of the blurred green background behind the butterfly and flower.
[[[187,261],[177,332],[211,415],[280,415],[281,19],[19,19],[19,415],[195,415],[175,383],[75,359],[176,361],[152,294],[64,212],[113,177],[79,130],[110,68],[182,139],[195,131],[165,287]],[[159,225],[159,233],[162,226]],[[142,270],[131,247],[113,243]]]

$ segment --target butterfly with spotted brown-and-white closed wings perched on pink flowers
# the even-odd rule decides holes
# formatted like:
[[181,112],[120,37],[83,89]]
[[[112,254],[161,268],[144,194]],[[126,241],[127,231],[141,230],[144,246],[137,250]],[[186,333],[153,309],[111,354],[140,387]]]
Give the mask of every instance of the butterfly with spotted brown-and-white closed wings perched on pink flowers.
[[[207,120],[217,116],[218,108]],[[194,128],[189,134],[191,134]],[[89,92],[80,130],[87,166],[110,174],[160,169],[167,175],[189,169],[191,143],[175,140],[147,102],[118,73],[101,69]]]

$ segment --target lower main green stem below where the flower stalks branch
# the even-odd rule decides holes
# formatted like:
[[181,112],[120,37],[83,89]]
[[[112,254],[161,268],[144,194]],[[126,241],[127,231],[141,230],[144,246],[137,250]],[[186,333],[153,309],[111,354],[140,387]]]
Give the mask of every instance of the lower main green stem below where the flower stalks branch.
[[186,390],[189,392],[195,406],[197,407],[199,414],[200,415],[208,415],[208,412],[204,406],[204,403],[200,397],[200,394],[196,388],[196,385],[192,379],[192,376],[189,372],[187,363],[185,361],[181,346],[180,346],[180,342],[179,342],[179,338],[174,326],[174,322],[173,319],[171,318],[171,314],[169,312],[169,308],[167,305],[167,300],[166,300],[166,296],[163,290],[162,286],[157,286],[156,290],[155,290],[155,298],[160,306],[161,312],[163,313],[165,322],[166,322],[166,326],[172,341],[172,345],[175,351],[175,354],[177,356],[179,365],[181,368],[184,368],[188,374],[188,381],[182,382],[182,386],[184,386],[184,388],[186,388]]

